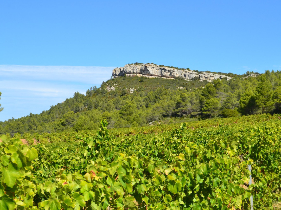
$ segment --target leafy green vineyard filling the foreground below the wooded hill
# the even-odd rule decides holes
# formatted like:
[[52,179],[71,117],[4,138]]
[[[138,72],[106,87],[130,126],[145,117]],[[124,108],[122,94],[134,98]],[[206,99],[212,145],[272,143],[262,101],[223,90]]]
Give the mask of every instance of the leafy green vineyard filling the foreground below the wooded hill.
[[278,209],[280,118],[3,135],[0,209]]

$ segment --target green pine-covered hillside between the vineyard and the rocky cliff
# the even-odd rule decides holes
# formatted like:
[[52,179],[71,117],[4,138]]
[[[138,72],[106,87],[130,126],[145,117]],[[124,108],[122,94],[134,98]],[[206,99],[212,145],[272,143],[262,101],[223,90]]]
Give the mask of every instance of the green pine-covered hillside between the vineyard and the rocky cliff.
[[173,123],[212,117],[281,113],[281,72],[253,72],[227,81],[117,77],[41,114],[0,122],[1,134],[51,133]]

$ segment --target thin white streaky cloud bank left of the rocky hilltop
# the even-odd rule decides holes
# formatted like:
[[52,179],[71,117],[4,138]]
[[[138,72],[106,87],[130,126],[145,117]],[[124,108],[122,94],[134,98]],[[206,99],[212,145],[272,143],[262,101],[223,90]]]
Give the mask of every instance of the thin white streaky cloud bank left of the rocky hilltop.
[[0,65],[0,120],[40,113],[108,79],[115,67]]

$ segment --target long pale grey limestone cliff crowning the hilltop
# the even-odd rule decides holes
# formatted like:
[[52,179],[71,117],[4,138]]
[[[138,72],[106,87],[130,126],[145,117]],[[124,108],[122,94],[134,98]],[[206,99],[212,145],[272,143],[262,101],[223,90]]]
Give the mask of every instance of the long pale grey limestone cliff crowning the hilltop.
[[[143,77],[163,77],[173,79],[176,77],[180,77],[183,79],[193,79],[198,78],[200,81],[212,81],[214,79],[222,79],[227,77],[221,74],[213,74],[208,72],[197,73],[192,70],[181,70],[181,69],[172,69],[168,67],[160,67],[155,64],[142,64],[142,65],[130,65],[127,64],[124,67],[115,68],[112,70],[112,77],[120,77],[120,76],[143,76]],[[227,80],[231,79],[231,77],[227,77]]]

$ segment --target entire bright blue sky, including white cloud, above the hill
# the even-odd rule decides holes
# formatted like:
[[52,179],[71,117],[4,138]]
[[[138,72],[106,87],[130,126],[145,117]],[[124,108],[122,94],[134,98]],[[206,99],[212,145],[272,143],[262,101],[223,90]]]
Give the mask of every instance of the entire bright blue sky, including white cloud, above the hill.
[[0,120],[85,93],[127,63],[281,70],[280,8],[281,1],[0,0]]

